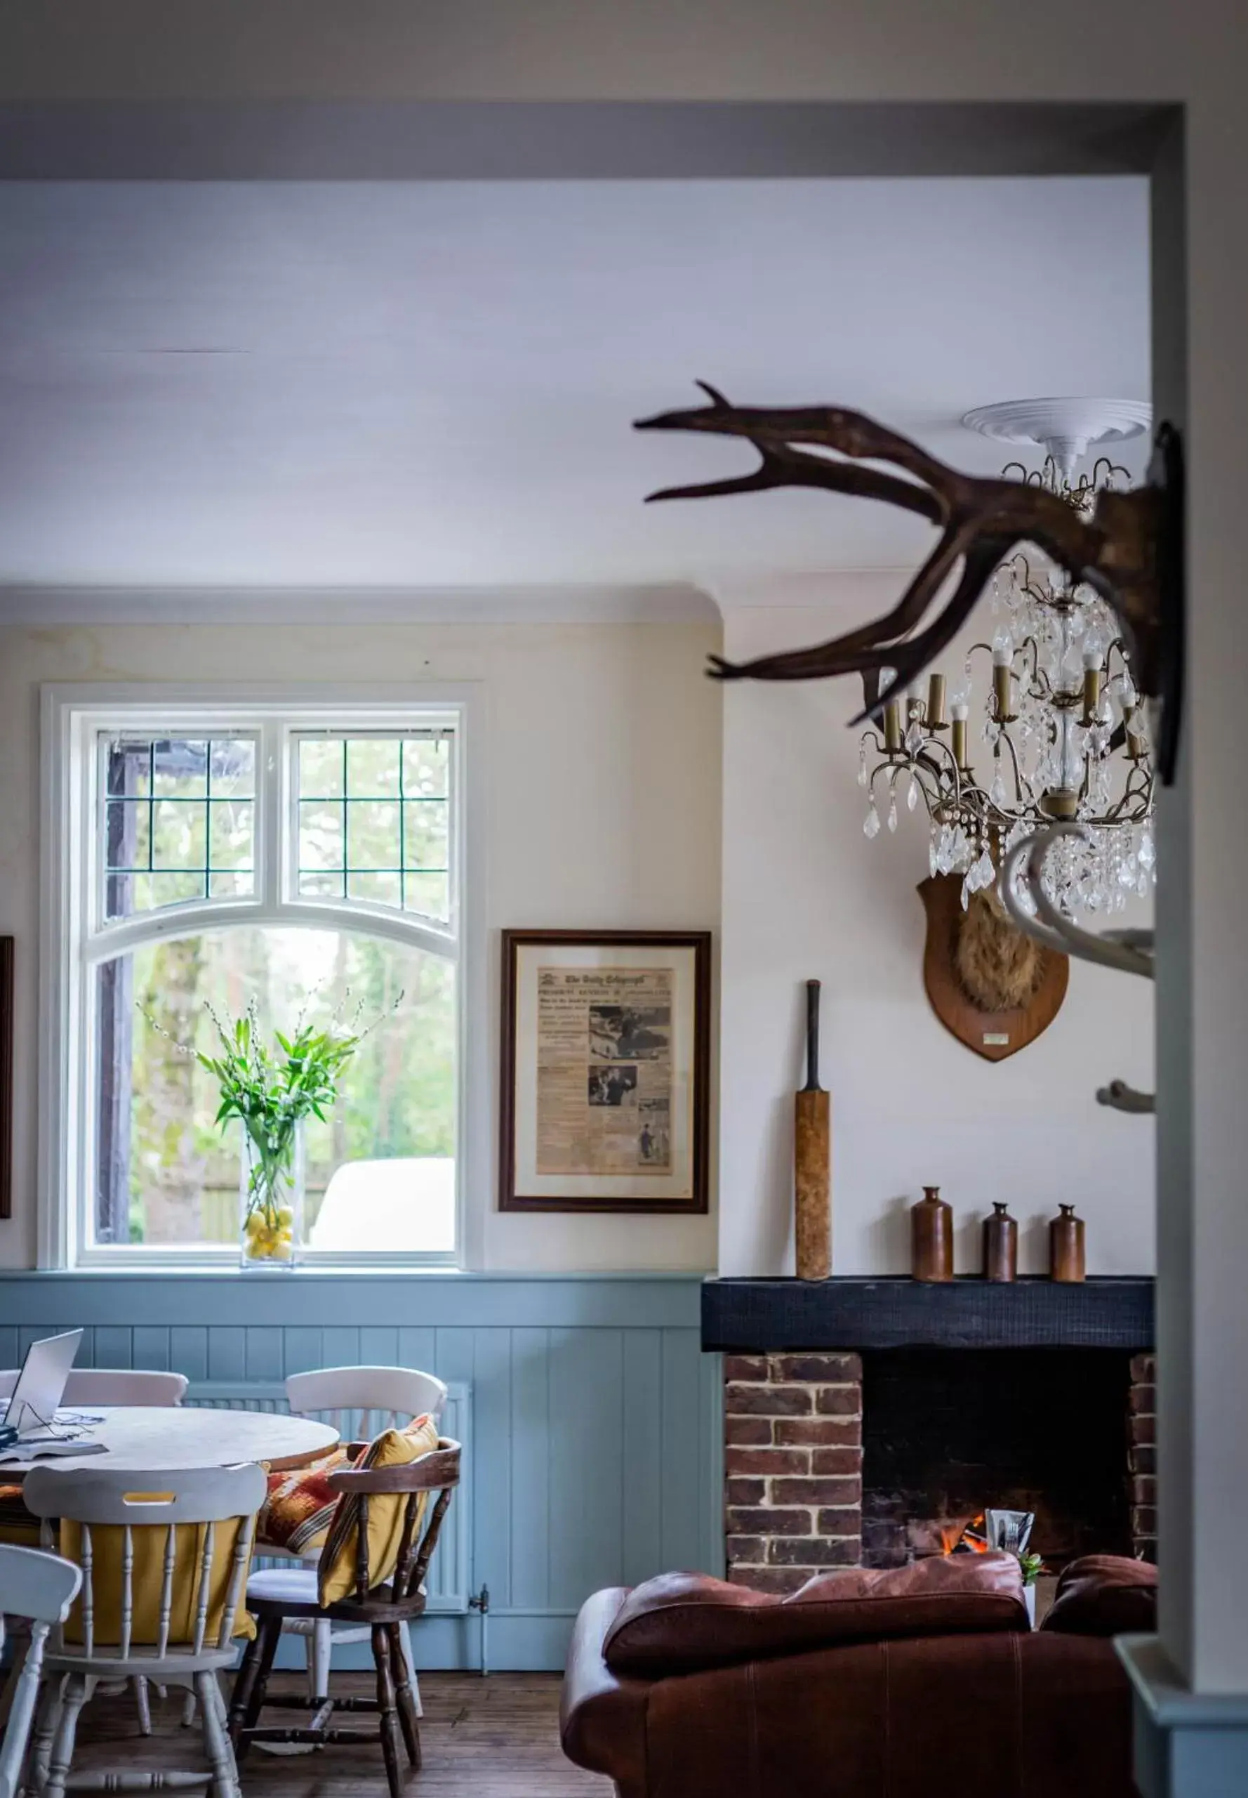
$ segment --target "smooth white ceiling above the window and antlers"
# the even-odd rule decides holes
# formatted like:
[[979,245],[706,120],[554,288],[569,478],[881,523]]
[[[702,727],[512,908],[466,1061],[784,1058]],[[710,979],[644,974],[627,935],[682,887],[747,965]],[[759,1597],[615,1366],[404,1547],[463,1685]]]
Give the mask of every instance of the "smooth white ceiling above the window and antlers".
[[[812,493],[643,437],[839,401],[984,471],[968,406],[1147,397],[1140,178],[4,183],[0,581],[546,586],[900,566]],[[1138,469],[1142,450],[1122,460]]]

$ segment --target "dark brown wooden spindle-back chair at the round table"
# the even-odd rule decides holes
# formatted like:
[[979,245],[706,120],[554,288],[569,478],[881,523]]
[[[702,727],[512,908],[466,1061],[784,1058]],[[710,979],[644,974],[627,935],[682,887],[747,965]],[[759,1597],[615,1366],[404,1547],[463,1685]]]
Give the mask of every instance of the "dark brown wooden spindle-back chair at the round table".
[[[381,1748],[386,1760],[386,1780],[390,1798],[399,1798],[400,1744],[413,1767],[420,1766],[420,1726],[417,1706],[408,1678],[408,1661],[402,1651],[400,1629],[422,1616],[426,1607],[424,1579],[429,1571],[433,1550],[438,1544],[438,1532],[445,1518],[451,1492],[460,1483],[460,1444],[447,1437],[438,1438],[438,1447],[420,1460],[402,1467],[368,1467],[334,1473],[329,1485],[339,1494],[338,1503],[356,1500],[359,1505],[356,1535],[356,1589],[350,1598],[321,1609],[316,1598],[316,1573],[302,1568],[273,1568],[253,1573],[248,1580],[248,1609],[259,1622],[255,1642],[248,1643],[239,1678],[230,1701],[230,1737],[239,1760],[251,1742],[284,1744],[343,1744],[368,1742],[363,1730],[339,1730],[334,1726],[336,1712],[377,1712]],[[422,1516],[422,1503],[427,1494],[436,1492],[436,1501],[427,1514],[420,1539],[417,1523]],[[370,1498],[404,1496],[402,1532],[399,1537],[399,1559],[393,1575],[375,1580],[368,1564],[368,1503]],[[268,1679],[273,1656],[287,1618],[327,1616],[330,1622],[368,1625],[377,1672],[377,1697],[268,1697]],[[312,1717],[305,1728],[260,1728],[259,1717],[269,1703],[286,1710],[311,1710]]]

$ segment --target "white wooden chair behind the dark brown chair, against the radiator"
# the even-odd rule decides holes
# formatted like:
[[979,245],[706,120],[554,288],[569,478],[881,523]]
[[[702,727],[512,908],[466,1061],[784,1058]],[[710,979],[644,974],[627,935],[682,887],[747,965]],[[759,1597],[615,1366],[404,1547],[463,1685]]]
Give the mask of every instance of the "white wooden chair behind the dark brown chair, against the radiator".
[[[314,1417],[330,1424],[343,1442],[372,1440],[382,1429],[400,1429],[413,1417],[429,1411],[440,1419],[447,1388],[435,1374],[415,1366],[318,1366],[309,1374],[291,1374],[286,1381],[286,1401],[296,1417]],[[260,1553],[269,1550],[260,1548]],[[294,1557],[291,1557],[294,1559]],[[318,1555],[303,1564],[316,1566]],[[329,1697],[329,1669],[334,1645],[368,1642],[368,1625],[338,1625],[327,1616],[291,1616],[284,1629],[307,1642],[307,1692],[312,1699]],[[417,1715],[422,1717],[420,1687],[411,1663],[411,1633],[400,1625],[402,1652],[411,1679]]]

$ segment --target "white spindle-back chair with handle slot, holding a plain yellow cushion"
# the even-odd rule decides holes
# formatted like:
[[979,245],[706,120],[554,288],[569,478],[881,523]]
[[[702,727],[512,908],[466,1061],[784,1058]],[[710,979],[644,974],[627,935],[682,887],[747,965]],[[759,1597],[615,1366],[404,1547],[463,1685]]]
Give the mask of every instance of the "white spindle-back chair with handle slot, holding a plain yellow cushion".
[[[153,1469],[149,1473],[106,1473],[104,1469],[65,1471],[34,1467],[27,1474],[25,1500],[34,1516],[79,1525],[83,1600],[83,1642],[66,1642],[65,1631],[54,1638],[45,1654],[45,1685],[31,1755],[32,1791],[36,1798],[63,1798],[66,1791],[181,1791],[192,1785],[212,1785],[214,1798],[241,1798],[239,1773],[226,1735],[224,1701],[217,1672],[233,1665],[237,1642],[233,1620],[244,1593],[255,1514],[264,1501],[266,1483],[260,1467],[196,1467]],[[221,1625],[208,1634],[208,1615],[214,1598],[214,1548],[223,1525],[235,1523],[233,1552],[221,1597]],[[120,1539],[120,1602],[119,1615],[108,1616],[97,1606],[97,1586],[104,1579],[104,1557],[95,1557],[93,1530],[119,1527]],[[178,1525],[203,1525],[198,1535],[181,1543]],[[158,1546],[162,1566],[158,1620],[154,1642],[135,1640],[135,1561],[140,1535]],[[158,1541],[160,1537],[160,1541]],[[190,1553],[187,1543],[190,1541]],[[110,1566],[110,1573],[111,1573]],[[194,1622],[183,1640],[174,1627],[172,1607],[180,1577],[192,1579]],[[142,1622],[142,1613],[140,1613]],[[101,1638],[101,1631],[104,1636]],[[205,1749],[210,1773],[136,1771],[133,1767],[106,1773],[70,1775],[74,1737],[83,1705],[102,1681],[153,1679],[156,1685],[176,1685],[199,1699]]]

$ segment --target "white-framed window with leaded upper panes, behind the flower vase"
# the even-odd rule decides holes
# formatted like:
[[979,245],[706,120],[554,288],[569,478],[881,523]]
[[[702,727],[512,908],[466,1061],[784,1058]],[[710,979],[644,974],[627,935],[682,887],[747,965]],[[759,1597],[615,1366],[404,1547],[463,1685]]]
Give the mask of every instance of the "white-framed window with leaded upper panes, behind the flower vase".
[[458,707],[54,705],[52,1264],[230,1264],[214,1018],[372,1025],[305,1126],[311,1260],[453,1264]]

